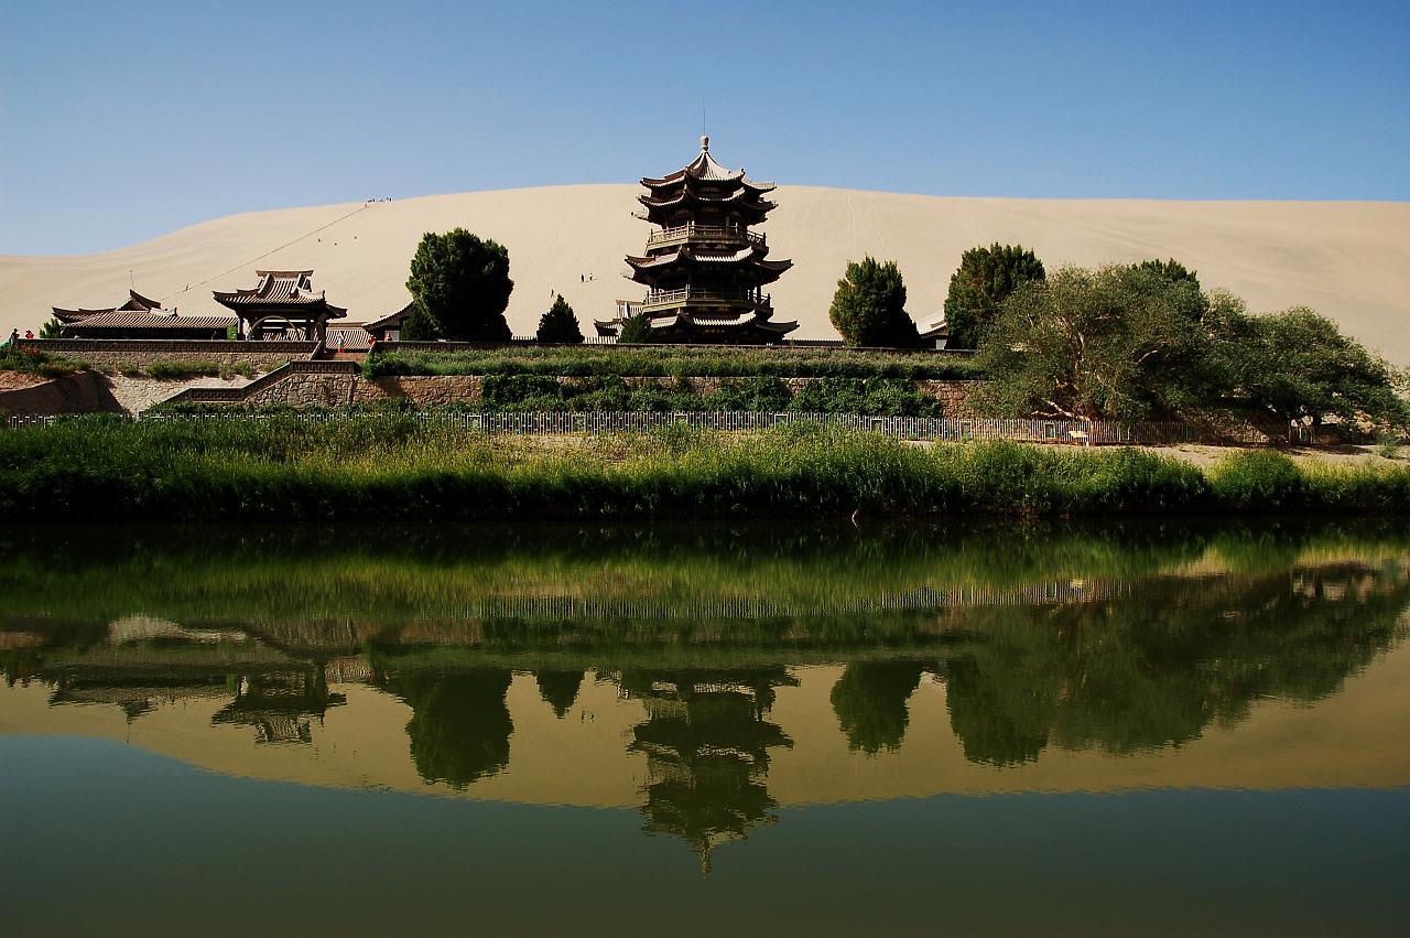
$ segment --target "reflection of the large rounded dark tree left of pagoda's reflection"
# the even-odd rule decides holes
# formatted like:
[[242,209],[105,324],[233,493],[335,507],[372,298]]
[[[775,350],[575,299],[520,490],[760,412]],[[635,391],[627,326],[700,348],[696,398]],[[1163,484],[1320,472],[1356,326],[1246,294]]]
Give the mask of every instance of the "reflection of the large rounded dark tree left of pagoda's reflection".
[[502,669],[406,671],[385,680],[412,707],[406,735],[422,779],[464,788],[509,765],[509,681]]

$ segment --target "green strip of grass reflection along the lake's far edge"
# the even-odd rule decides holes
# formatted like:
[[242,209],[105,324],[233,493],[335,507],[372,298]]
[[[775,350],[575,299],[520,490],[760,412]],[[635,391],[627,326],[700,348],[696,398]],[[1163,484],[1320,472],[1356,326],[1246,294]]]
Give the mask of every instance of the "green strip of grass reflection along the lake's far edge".
[[[1286,571],[1301,557],[1404,557],[1387,528],[850,529],[172,529],[56,530],[0,543],[10,616],[106,622],[130,614],[220,622],[455,622],[486,597],[640,601],[675,615],[723,616],[730,602],[787,616],[866,607],[922,588],[1019,590],[1129,583],[1197,567]],[[754,615],[766,615],[767,609]],[[561,616],[546,611],[544,621]],[[515,628],[526,628],[520,622]],[[554,626],[556,628],[556,626]],[[733,628],[733,626],[730,626]]]

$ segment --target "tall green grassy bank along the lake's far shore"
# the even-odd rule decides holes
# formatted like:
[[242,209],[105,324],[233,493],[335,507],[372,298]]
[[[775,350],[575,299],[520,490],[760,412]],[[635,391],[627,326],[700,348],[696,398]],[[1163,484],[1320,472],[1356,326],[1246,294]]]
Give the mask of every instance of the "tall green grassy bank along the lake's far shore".
[[82,418],[0,433],[0,511],[30,520],[1394,513],[1407,504],[1410,467],[1244,453],[1198,470],[1138,450],[919,449],[815,426],[536,439],[384,415]]

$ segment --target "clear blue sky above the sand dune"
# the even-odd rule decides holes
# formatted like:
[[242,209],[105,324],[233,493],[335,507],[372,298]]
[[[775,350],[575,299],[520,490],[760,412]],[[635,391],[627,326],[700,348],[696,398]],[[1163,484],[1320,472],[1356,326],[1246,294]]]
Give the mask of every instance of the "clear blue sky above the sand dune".
[[0,252],[697,151],[932,195],[1410,199],[1410,3],[0,0]]

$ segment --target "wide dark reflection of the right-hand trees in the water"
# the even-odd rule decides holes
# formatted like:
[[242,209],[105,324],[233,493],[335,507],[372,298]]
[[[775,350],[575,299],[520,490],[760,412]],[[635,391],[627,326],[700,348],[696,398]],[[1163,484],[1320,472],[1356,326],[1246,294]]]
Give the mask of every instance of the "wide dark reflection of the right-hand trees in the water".
[[1234,725],[1261,698],[1314,701],[1402,638],[1410,584],[1361,567],[1165,580],[1121,602],[976,609],[940,666],[971,762],[1049,745],[1125,755]]

